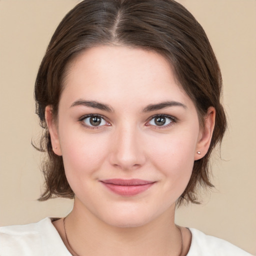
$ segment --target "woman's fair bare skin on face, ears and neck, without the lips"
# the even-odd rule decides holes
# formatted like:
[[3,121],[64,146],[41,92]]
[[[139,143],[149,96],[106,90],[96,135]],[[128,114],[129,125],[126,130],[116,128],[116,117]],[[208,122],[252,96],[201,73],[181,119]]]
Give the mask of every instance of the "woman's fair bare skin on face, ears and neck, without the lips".
[[[45,117],[53,150],[62,155],[75,193],[65,220],[72,248],[79,255],[178,255],[175,201],[189,181],[194,160],[207,152],[214,108],[209,107],[201,130],[196,108],[165,58],[127,46],[82,52],[69,64],[63,85],[57,119],[51,106]],[[109,109],[82,101],[97,101]],[[148,109],[167,101],[178,104]],[[83,118],[89,114],[102,116],[100,125],[91,126],[89,117]],[[157,125],[155,115],[165,123]],[[122,196],[100,182],[110,178],[154,183],[139,194]],[[53,224],[72,252],[63,219]],[[185,255],[191,235],[186,228],[181,233]]]

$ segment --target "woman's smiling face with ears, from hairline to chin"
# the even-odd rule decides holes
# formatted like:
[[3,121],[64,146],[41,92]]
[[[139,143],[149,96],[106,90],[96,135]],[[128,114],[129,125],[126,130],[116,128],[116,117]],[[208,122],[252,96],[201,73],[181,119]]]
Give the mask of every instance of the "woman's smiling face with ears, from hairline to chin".
[[[63,85],[57,120],[49,106],[46,120],[74,207],[122,227],[172,214],[211,131],[200,130],[195,106],[165,58],[97,46],[69,65]],[[214,109],[208,112],[212,126]]]

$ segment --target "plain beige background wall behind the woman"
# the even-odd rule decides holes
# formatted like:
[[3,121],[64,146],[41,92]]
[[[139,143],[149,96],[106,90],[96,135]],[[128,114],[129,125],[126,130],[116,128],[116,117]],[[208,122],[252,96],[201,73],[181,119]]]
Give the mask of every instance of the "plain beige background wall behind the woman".
[[[33,83],[56,25],[77,0],[0,0],[0,225],[64,216],[67,199],[38,202],[40,135]],[[256,253],[256,1],[179,0],[204,27],[223,74],[229,130],[215,159],[212,193],[181,207],[179,224]]]

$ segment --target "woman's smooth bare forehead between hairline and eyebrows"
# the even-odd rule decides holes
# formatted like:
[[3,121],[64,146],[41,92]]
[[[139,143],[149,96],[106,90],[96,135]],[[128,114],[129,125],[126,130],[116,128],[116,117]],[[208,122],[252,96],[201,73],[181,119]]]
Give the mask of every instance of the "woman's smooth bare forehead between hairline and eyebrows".
[[102,45],[83,51],[68,65],[63,87],[61,98],[70,102],[77,97],[108,103],[190,100],[162,55],[127,46]]

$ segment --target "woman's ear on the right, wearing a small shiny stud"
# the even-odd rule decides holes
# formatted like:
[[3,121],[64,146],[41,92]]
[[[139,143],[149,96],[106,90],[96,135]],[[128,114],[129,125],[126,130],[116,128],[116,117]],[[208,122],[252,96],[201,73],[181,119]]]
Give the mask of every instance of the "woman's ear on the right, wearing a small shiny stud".
[[[212,137],[212,132],[215,124],[215,113],[216,110],[213,106],[210,106],[204,116],[204,127],[201,129],[198,142],[196,145],[196,150],[194,152],[194,160],[202,158],[210,146],[210,141]],[[198,153],[200,152],[200,153]]]

